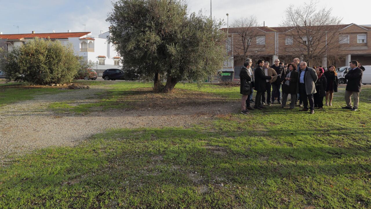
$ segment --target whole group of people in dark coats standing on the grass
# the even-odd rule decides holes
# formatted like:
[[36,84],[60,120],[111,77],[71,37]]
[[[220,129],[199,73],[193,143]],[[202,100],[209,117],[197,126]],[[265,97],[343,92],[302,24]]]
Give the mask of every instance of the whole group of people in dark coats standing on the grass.
[[[325,105],[332,106],[334,92],[338,91],[338,77],[334,65],[330,65],[325,71],[321,66],[308,67],[306,62],[300,62],[299,58],[295,58],[290,64],[283,64],[276,59],[275,64],[271,66],[267,61],[258,60],[254,72],[251,66],[252,60],[247,58],[240,71],[241,113],[244,115],[250,113],[249,110],[262,110],[263,105],[270,106],[275,101],[284,108],[289,94],[290,109],[294,109],[299,102],[299,106],[303,107],[299,111],[309,111],[313,114],[315,107],[323,109],[324,98],[326,98]],[[349,62],[349,66],[351,69],[345,75],[345,79],[348,80],[345,89],[347,106],[342,108],[357,111],[363,71],[358,67],[357,61]],[[256,91],[255,101],[253,90]],[[252,102],[254,102],[253,107],[250,106]]]

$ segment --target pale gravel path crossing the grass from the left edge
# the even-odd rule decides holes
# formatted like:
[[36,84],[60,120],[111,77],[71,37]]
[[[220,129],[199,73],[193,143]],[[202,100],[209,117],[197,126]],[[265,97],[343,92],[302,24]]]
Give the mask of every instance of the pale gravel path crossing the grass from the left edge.
[[22,154],[49,146],[74,146],[111,128],[176,126],[188,127],[220,113],[236,112],[237,102],[184,107],[181,109],[109,110],[87,115],[56,114],[47,110],[51,102],[92,102],[103,89],[69,90],[38,96],[0,109],[0,166],[9,154]]

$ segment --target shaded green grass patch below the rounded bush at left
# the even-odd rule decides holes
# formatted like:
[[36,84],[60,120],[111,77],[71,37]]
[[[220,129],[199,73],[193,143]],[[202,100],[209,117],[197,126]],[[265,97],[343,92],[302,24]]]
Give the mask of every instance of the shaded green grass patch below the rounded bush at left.
[[33,99],[42,94],[60,93],[55,88],[24,87],[23,83],[0,84],[0,107],[11,103]]

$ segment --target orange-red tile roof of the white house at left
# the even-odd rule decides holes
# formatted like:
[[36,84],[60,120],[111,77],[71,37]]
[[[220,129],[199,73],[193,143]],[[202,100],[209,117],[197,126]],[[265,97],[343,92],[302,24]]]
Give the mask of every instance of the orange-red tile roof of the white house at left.
[[88,35],[91,32],[73,32],[73,33],[24,33],[24,34],[3,34],[0,35],[0,39],[22,39],[22,38],[50,38],[50,39],[67,39],[72,37],[82,37]]

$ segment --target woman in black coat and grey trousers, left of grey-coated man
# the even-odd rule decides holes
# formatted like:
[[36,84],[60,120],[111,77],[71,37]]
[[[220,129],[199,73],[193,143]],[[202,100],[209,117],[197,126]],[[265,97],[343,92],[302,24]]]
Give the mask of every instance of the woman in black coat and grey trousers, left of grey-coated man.
[[290,109],[295,108],[298,76],[299,73],[296,71],[296,66],[294,66],[293,64],[289,64],[288,71],[286,71],[286,74],[284,76],[281,76],[283,80],[281,105],[282,108],[286,106],[287,97],[289,96],[289,94],[291,95]]

